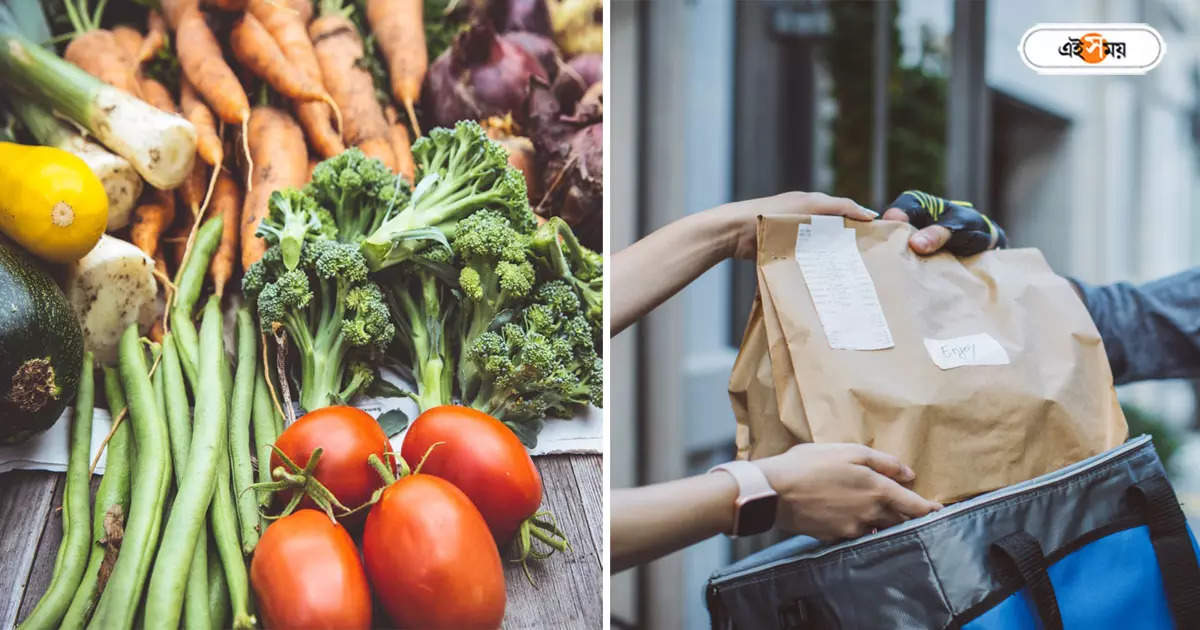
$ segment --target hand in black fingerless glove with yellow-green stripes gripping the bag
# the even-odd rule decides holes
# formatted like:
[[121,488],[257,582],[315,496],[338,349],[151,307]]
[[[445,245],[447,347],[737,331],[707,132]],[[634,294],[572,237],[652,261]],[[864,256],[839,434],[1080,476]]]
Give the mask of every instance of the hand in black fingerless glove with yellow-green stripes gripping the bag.
[[974,209],[971,202],[905,191],[892,202],[886,221],[905,221],[919,232],[908,240],[912,251],[930,254],[941,248],[955,256],[972,256],[992,247],[1004,247],[1004,230]]

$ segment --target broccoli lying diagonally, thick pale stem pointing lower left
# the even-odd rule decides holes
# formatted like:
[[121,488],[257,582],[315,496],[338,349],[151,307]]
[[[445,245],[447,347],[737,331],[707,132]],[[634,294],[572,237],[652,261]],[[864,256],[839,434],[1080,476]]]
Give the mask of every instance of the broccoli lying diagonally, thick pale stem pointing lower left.
[[448,247],[457,223],[484,208],[505,216],[521,233],[533,230],[524,176],[478,122],[431,130],[413,143],[413,157],[418,181],[407,204],[362,239],[372,271],[413,259],[418,251],[428,251],[431,241]]

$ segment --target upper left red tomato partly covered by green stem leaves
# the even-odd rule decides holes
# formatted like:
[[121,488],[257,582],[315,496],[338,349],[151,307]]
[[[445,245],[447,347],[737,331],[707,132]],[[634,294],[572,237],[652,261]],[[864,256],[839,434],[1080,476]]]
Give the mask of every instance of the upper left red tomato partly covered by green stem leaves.
[[[323,449],[316,478],[337,500],[352,509],[366,503],[371,493],[383,486],[383,479],[367,463],[367,456],[374,454],[389,462],[384,452],[391,450],[379,422],[354,407],[323,407],[308,412],[283,430],[275,445],[300,468],[305,467],[314,449]],[[282,463],[280,456],[272,452],[271,469]],[[290,498],[289,492],[281,494],[284,502]],[[305,497],[300,508],[317,508],[317,504]]]

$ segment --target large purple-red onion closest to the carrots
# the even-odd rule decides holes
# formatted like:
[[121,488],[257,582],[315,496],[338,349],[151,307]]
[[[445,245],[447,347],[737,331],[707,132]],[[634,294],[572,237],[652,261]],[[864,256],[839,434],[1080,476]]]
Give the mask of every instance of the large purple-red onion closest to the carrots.
[[476,20],[430,66],[425,107],[443,127],[510,113],[522,120],[532,77],[547,79],[541,64]]

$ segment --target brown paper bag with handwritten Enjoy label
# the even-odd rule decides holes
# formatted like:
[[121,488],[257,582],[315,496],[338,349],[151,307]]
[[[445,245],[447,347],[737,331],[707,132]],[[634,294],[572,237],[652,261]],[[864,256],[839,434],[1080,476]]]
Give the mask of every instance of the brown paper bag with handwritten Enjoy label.
[[[802,223],[760,220],[758,300],[730,380],[739,456],[866,444],[911,466],[918,493],[948,503],[1126,439],[1099,332],[1040,252],[918,257],[911,226],[846,221],[894,346],[834,349],[796,260]],[[992,344],[1007,364],[972,362]]]

